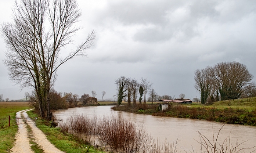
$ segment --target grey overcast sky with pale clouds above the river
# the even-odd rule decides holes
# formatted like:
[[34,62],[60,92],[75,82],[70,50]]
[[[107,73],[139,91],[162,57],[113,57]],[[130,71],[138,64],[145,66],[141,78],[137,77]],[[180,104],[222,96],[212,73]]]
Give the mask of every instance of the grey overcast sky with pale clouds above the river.
[[[245,64],[256,76],[255,0],[77,0],[82,11],[74,38],[80,44],[94,29],[87,57],[75,57],[58,70],[54,88],[101,100],[117,93],[120,76],[147,78],[159,95],[200,97],[194,71],[224,61]],[[0,23],[12,21],[14,0],[0,0]],[[68,51],[70,47],[63,48]],[[0,38],[0,94],[24,97],[8,79],[7,51]],[[253,79],[255,81],[255,77]],[[147,96],[148,97],[148,96]]]

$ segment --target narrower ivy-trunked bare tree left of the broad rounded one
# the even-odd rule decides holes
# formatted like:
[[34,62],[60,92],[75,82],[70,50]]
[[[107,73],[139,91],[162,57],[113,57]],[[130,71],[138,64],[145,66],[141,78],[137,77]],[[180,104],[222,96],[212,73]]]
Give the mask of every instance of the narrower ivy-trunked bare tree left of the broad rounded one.
[[201,70],[197,69],[195,71],[194,80],[196,81],[194,87],[201,92],[201,103],[206,104],[212,86],[210,67]]

